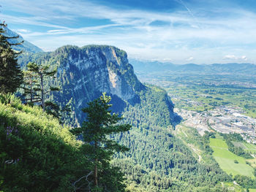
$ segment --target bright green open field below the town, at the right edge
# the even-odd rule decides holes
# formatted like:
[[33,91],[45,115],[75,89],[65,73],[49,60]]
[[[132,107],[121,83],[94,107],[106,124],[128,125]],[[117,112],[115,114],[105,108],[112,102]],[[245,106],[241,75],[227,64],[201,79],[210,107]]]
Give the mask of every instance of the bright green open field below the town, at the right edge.
[[[210,139],[210,147],[214,150],[214,158],[219,166],[227,172],[227,174],[241,174],[254,177],[253,169],[246,164],[245,158],[239,157],[227,150],[227,144],[222,139]],[[237,160],[238,164],[234,161]]]

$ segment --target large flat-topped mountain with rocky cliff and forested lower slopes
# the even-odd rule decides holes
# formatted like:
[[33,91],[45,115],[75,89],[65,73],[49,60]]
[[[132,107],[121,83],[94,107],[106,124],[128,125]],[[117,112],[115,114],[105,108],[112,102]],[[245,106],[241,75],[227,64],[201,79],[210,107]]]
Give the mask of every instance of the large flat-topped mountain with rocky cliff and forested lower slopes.
[[[65,115],[69,125],[79,126],[85,119],[81,109],[103,91],[112,97],[113,112],[132,125],[127,133],[110,136],[130,148],[128,153],[117,153],[113,164],[127,175],[131,191],[214,191],[215,186],[221,187],[220,181],[230,180],[214,158],[206,154],[207,161],[200,161],[173,134],[181,121],[173,112],[173,102],[162,88],[138,80],[124,50],[67,45],[52,53],[25,54],[18,60],[23,67],[29,61],[58,69],[56,79],[46,87],[58,85],[61,91],[47,98],[61,106],[71,105],[71,115]],[[208,148],[200,136],[194,139],[199,139],[202,150]]]

